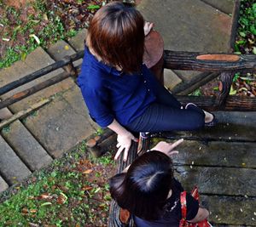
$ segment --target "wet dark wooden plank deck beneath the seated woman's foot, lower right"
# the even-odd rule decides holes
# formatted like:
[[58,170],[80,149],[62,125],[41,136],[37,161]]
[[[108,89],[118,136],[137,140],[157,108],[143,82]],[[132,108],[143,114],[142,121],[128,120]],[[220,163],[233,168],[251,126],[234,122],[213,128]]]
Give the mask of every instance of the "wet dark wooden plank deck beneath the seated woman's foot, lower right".
[[185,190],[199,187],[214,226],[256,226],[256,112],[216,116],[215,128],[175,135],[187,138],[173,158],[175,176]]

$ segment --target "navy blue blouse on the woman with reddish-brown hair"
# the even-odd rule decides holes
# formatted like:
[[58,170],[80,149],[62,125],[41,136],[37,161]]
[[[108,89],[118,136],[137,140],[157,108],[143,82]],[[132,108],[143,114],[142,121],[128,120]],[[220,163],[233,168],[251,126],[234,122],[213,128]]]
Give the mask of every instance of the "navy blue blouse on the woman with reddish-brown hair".
[[96,60],[89,48],[84,49],[78,83],[90,116],[101,127],[114,118],[125,126],[141,116],[155,100],[157,82],[146,65],[140,73],[125,74]]

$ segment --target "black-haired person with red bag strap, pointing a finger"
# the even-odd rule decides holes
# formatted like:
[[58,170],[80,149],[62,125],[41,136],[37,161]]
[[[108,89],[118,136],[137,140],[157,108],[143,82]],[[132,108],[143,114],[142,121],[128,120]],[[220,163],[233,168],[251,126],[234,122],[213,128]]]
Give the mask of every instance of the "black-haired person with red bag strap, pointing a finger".
[[[172,149],[181,142],[182,139],[173,145],[160,142],[132,162],[127,173],[119,173],[109,180],[111,196],[119,207],[130,211],[136,226],[179,226],[183,187],[173,178],[170,156],[177,153]],[[190,194],[186,201],[189,222],[196,223],[208,217],[207,209],[199,207]]]

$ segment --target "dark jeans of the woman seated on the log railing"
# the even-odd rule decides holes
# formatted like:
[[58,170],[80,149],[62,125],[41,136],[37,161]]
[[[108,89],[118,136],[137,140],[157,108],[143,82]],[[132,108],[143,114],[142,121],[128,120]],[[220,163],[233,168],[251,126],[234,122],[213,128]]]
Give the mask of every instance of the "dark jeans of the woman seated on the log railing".
[[132,132],[163,132],[204,127],[205,114],[200,108],[189,105],[188,109],[181,109],[177,99],[160,84],[154,94],[157,100],[126,128]]

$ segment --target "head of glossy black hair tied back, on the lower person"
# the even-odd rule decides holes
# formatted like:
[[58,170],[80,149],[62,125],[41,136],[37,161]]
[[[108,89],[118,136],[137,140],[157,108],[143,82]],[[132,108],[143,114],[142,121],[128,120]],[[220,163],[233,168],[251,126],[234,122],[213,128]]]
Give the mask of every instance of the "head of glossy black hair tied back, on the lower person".
[[111,196],[120,207],[147,220],[160,218],[172,188],[172,160],[160,151],[139,156],[127,173],[110,179]]

